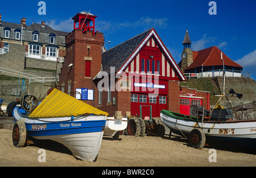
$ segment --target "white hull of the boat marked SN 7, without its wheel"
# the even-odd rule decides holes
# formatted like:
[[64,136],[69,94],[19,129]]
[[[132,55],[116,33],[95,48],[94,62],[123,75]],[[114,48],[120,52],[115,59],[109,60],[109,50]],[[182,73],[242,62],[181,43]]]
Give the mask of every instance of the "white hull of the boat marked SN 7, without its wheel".
[[242,121],[201,121],[179,119],[160,113],[164,124],[171,132],[188,137],[193,129],[202,129],[207,139],[256,141],[256,120]]

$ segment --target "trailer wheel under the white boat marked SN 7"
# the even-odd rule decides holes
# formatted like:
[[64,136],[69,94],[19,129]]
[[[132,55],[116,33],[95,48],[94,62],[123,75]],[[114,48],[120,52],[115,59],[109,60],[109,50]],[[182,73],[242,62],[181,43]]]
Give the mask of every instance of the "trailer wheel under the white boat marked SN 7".
[[201,129],[193,129],[189,134],[189,144],[195,149],[203,149],[205,145],[205,134]]

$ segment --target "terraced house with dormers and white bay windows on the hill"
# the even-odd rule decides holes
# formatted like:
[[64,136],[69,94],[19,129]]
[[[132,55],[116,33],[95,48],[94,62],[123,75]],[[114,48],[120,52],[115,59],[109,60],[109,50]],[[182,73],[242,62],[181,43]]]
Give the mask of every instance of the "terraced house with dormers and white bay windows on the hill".
[[27,25],[26,18],[20,24],[4,22],[0,15],[0,71],[34,80],[55,77],[57,59],[58,70],[64,62],[67,34],[45,22]]

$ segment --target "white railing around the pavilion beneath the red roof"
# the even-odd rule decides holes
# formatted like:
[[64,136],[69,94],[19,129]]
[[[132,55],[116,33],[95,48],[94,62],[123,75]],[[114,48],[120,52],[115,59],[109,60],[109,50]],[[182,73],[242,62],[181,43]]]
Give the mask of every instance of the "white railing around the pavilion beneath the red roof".
[[[184,73],[186,78],[203,78],[203,77],[222,77],[223,70],[209,70],[204,71],[203,73]],[[225,70],[225,77],[244,77],[250,78],[250,73],[240,70]]]

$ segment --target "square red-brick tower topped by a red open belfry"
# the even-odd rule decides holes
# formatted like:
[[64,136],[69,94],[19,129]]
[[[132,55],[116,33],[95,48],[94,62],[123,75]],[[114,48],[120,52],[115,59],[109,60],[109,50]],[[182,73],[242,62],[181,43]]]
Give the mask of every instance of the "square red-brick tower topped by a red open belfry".
[[[77,88],[93,90],[93,100],[97,101],[97,90],[93,83],[101,70],[101,52],[104,45],[103,33],[94,31],[97,16],[80,12],[72,19],[74,29],[65,37],[66,57],[60,73],[61,90],[71,96]],[[77,24],[78,23],[78,24]],[[77,27],[78,26],[78,27]],[[82,100],[94,106],[93,100]]]

